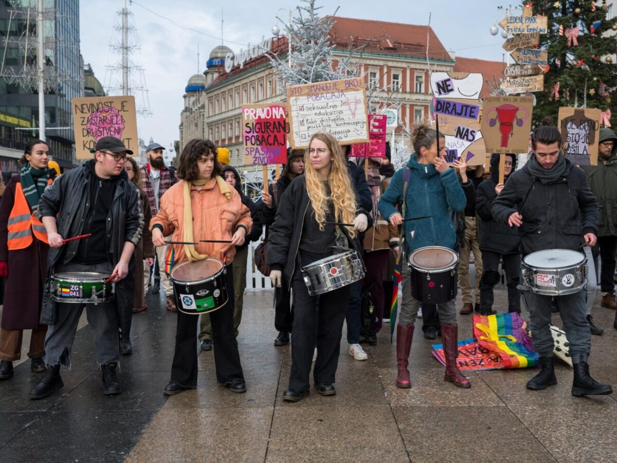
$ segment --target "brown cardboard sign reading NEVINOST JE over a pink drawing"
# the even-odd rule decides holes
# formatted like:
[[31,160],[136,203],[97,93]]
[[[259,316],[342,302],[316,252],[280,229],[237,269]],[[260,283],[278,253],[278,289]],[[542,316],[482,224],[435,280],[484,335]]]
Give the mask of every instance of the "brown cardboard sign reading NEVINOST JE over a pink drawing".
[[77,159],[92,159],[91,149],[104,136],[115,136],[138,154],[134,96],[73,98],[73,127]]

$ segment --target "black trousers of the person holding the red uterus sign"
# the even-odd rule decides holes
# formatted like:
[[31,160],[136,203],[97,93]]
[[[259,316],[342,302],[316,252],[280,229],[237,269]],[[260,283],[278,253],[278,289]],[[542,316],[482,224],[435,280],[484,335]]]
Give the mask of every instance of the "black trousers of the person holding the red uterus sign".
[[495,301],[493,288],[499,282],[499,259],[503,261],[508,287],[508,312],[521,313],[521,291],[516,286],[521,282],[521,254],[505,254],[482,251],[482,279],[480,280],[480,313],[491,314]]

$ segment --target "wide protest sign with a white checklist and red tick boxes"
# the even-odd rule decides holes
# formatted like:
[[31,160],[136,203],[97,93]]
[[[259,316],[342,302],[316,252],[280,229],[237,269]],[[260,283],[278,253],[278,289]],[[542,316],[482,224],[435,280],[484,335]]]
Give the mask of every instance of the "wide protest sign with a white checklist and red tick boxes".
[[362,78],[290,85],[287,105],[292,148],[308,148],[317,131],[328,131],[340,144],[368,143]]

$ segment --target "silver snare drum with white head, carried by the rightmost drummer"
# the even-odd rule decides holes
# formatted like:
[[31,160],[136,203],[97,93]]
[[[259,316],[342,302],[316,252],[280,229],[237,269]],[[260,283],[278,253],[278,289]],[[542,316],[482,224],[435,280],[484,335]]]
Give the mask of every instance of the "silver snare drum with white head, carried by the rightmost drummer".
[[585,254],[569,249],[546,249],[528,254],[521,264],[523,286],[547,296],[581,291],[587,284]]

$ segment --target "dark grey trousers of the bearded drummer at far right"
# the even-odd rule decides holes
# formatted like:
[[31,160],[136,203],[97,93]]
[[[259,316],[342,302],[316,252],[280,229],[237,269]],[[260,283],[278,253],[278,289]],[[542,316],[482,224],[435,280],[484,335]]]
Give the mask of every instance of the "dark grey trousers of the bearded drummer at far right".
[[522,291],[523,299],[529,309],[529,330],[534,341],[534,351],[540,357],[553,355],[553,336],[550,333],[550,301],[555,298],[563,329],[568,338],[570,356],[574,363],[586,362],[591,351],[591,332],[587,322],[586,291],[566,296],[545,296],[532,291]]

